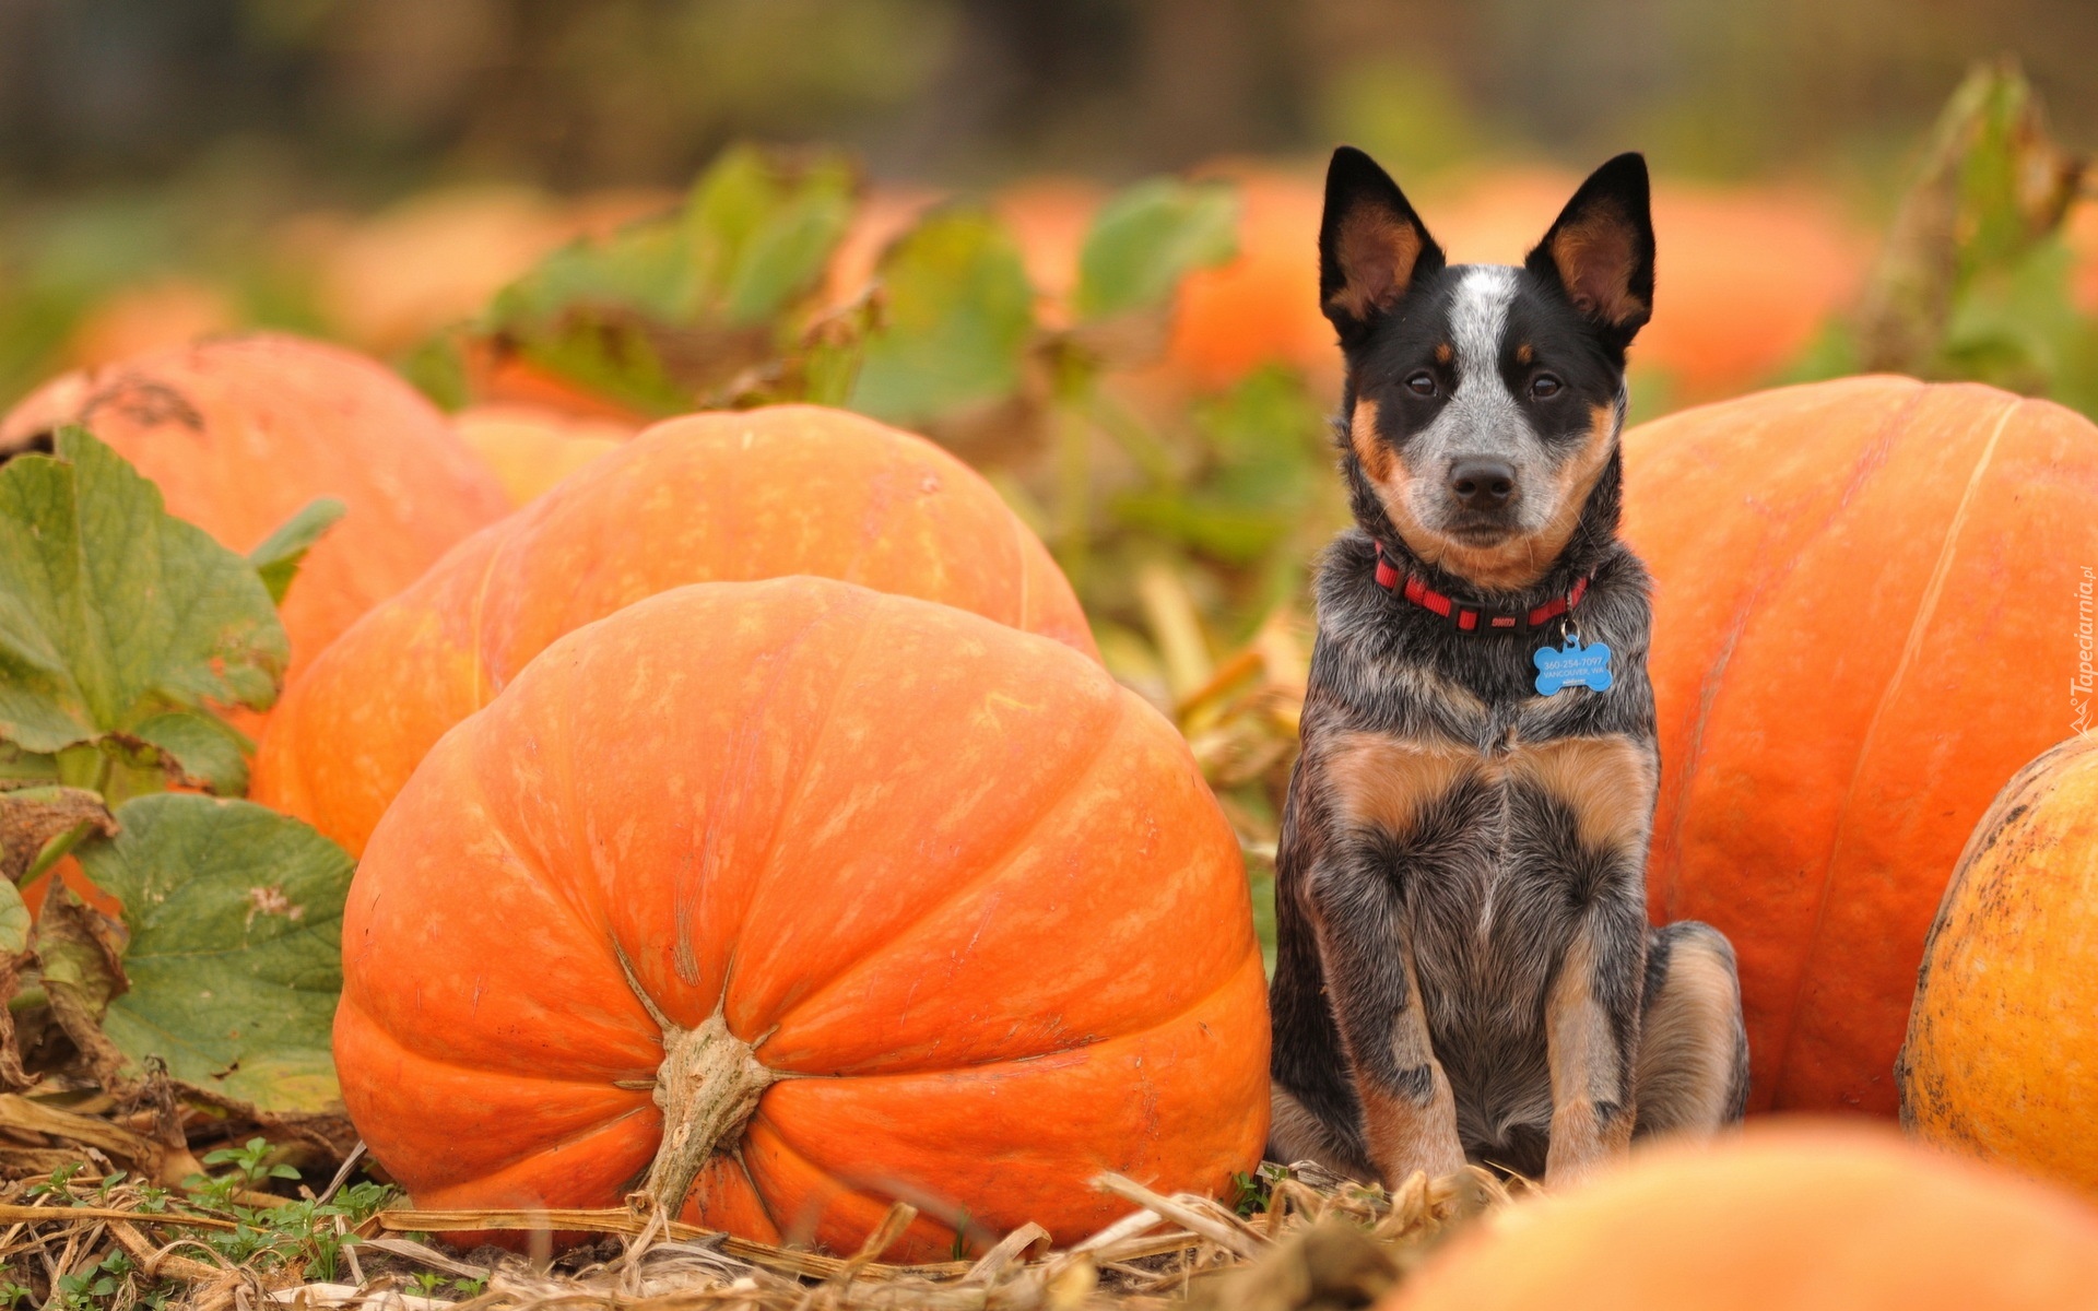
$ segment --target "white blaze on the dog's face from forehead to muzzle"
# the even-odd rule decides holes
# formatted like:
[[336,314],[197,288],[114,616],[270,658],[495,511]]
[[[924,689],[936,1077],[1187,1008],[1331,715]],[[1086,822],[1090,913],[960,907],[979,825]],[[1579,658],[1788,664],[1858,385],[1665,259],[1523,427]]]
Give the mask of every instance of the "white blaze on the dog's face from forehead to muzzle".
[[1414,478],[1410,499],[1414,518],[1425,524],[1441,522],[1448,508],[1443,470],[1462,455],[1496,455],[1515,466],[1525,491],[1517,506],[1523,531],[1536,531],[1550,510],[1540,503],[1548,497],[1536,495],[1542,489],[1532,487],[1538,474],[1538,434],[1500,375],[1500,344],[1508,334],[1515,273],[1506,264],[1473,264],[1450,294],[1456,390],[1414,447],[1414,470],[1422,476]]

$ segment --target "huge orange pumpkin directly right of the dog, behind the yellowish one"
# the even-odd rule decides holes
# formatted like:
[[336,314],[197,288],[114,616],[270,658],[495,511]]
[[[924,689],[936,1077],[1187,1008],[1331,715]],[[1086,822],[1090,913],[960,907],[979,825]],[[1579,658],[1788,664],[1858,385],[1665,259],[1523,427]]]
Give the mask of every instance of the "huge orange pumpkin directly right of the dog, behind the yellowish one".
[[2098,428],[1850,378],[1626,434],[1655,575],[1655,921],[1741,963],[1752,1110],[1894,1112],[1894,1053],[1974,820],[2060,736],[2098,560]]

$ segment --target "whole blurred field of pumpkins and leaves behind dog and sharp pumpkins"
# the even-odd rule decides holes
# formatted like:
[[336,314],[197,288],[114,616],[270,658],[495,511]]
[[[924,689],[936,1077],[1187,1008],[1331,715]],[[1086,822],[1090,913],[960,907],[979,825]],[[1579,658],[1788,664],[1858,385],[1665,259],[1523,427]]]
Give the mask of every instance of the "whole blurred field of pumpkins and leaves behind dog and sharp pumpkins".
[[518,501],[678,409],[913,426],[1259,858],[1345,522],[1334,143],[1498,260],[1647,151],[1634,422],[1859,369],[2098,413],[2094,67],[2092,0],[0,0],[0,403],[302,331]]

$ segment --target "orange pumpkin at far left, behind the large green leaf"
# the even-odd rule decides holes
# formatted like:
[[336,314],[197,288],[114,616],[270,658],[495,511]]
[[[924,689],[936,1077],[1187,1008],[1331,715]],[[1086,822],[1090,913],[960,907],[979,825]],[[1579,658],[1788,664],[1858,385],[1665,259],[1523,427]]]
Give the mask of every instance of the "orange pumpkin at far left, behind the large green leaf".
[[0,447],[67,422],[92,428],[159,485],[172,514],[237,552],[315,497],[348,506],[283,604],[292,678],[357,617],[510,510],[411,386],[361,354],[287,336],[67,373],[0,420]]

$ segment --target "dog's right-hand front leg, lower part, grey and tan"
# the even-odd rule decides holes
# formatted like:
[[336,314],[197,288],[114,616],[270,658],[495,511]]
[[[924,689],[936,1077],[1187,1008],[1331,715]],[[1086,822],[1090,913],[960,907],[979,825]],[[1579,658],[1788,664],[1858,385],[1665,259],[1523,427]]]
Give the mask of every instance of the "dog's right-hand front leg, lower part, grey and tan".
[[1555,1185],[1592,1175],[1632,1141],[1645,959],[1645,904],[1620,883],[1586,906],[1544,1003],[1553,1078],[1544,1177]]

